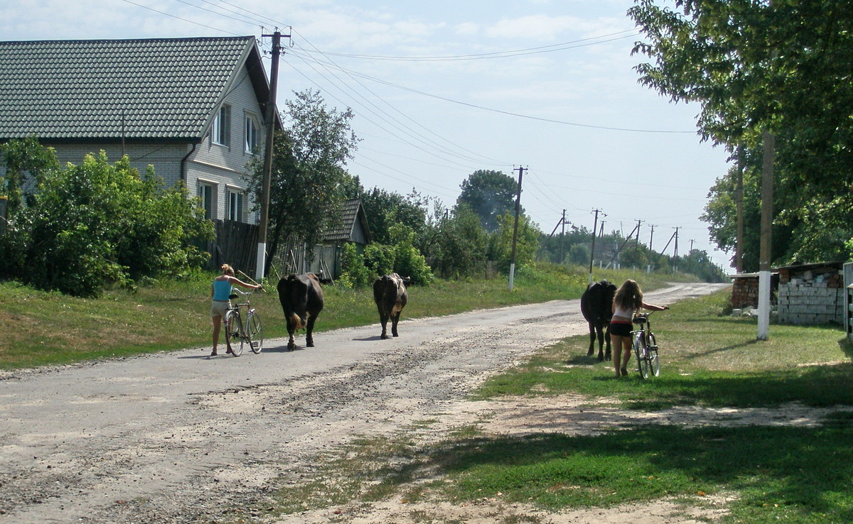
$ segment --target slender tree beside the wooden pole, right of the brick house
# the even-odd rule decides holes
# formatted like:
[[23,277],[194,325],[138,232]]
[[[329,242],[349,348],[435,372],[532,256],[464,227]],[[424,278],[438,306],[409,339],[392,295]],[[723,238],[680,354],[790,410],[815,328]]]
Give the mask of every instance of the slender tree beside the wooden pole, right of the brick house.
[[[352,191],[345,172],[358,139],[351,129],[350,108],[328,108],[319,91],[306,89],[286,102],[281,117],[289,124],[277,133],[270,177],[270,252],[288,239],[315,245],[340,221],[340,203]],[[249,190],[260,201],[264,163],[249,164]],[[311,251],[309,251],[310,253]],[[267,258],[269,270],[272,257]]]

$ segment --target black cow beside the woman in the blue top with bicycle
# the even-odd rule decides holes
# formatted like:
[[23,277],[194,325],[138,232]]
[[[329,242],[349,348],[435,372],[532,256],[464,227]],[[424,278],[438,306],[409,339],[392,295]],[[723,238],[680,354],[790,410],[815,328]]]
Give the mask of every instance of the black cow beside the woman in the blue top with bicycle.
[[290,340],[287,341],[287,349],[296,348],[293,342],[293,331],[305,328],[305,346],[314,347],[314,322],[317,315],[322,311],[322,289],[320,279],[316,274],[289,274],[278,281],[278,299],[281,301],[281,309],[284,310],[284,318],[287,320],[287,333]]

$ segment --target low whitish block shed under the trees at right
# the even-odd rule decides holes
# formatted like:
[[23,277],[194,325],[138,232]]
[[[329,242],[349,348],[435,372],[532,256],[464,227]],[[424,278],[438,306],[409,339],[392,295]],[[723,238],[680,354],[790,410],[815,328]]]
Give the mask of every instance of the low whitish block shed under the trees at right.
[[843,266],[820,262],[778,268],[780,323],[844,325]]

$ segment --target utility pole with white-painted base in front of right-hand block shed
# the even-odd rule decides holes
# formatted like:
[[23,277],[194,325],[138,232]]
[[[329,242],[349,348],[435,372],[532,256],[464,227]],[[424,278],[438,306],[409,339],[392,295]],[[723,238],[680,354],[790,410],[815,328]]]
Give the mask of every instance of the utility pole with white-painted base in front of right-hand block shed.
[[758,251],[758,340],[770,337],[770,262],[773,237],[773,162],[775,136],[764,130],[761,175],[761,244]]

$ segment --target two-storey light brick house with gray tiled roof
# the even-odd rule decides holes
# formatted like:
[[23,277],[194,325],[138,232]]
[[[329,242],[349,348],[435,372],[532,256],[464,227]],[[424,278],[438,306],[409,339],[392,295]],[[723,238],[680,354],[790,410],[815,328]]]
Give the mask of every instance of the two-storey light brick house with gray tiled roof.
[[242,176],[269,93],[251,36],[0,42],[0,143],[36,135],[61,164],[127,154],[212,220],[257,223]]

